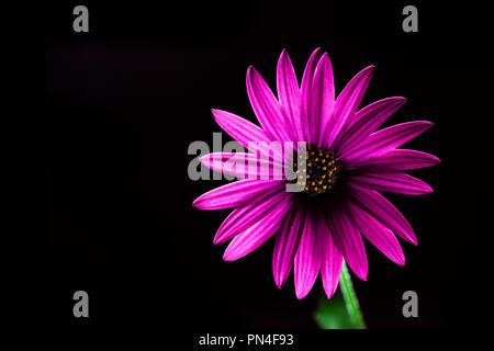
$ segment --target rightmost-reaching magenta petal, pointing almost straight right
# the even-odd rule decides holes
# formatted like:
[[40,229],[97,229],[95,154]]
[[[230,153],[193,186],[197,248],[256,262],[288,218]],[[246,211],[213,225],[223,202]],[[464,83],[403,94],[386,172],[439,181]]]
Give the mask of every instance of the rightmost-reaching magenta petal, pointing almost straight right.
[[364,168],[370,171],[406,171],[437,165],[440,159],[434,155],[407,149],[392,149],[366,160],[353,160],[346,163],[349,168]]

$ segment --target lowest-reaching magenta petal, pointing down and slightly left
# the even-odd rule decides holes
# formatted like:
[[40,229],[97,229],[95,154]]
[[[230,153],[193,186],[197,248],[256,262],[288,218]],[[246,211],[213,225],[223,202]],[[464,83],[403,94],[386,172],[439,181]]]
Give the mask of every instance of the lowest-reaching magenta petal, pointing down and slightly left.
[[321,250],[316,225],[316,218],[307,212],[294,260],[295,294],[299,299],[308,294],[319,272]]

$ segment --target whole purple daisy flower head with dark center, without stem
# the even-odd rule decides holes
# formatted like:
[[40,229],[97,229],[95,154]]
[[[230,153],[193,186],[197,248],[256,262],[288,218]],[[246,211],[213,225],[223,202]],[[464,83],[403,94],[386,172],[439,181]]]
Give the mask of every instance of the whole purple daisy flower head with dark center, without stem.
[[[281,287],[294,267],[295,293],[303,298],[321,271],[324,290],[332,297],[338,285],[343,260],[357,276],[367,280],[368,262],[362,235],[397,264],[403,250],[395,237],[417,244],[403,215],[380,192],[418,195],[433,189],[402,171],[433,166],[433,155],[398,149],[431,126],[415,121],[378,128],[405,102],[388,98],[358,110],[373,66],[360,71],[335,99],[329,56],[317,48],[308,59],[299,86],[287,52],[278,61],[278,99],[260,75],[249,67],[247,92],[261,127],[225,111],[213,110],[220,126],[250,152],[210,154],[206,167],[242,176],[193,202],[201,210],[235,210],[223,222],[214,244],[232,240],[223,256],[237,260],[274,236],[272,270]],[[257,146],[250,141],[266,141]],[[281,155],[262,147],[270,141],[306,141],[295,152],[296,181],[274,179],[287,167]],[[245,172],[228,163],[256,161]],[[295,160],[296,159],[296,160]],[[299,167],[299,160],[302,160]],[[268,179],[266,179],[268,176]],[[300,192],[288,192],[297,182]]]

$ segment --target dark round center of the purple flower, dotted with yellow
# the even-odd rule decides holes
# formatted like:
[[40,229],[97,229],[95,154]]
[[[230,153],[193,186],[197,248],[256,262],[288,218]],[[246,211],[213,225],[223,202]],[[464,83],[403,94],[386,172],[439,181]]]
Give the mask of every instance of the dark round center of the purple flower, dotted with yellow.
[[[304,157],[305,168],[303,168]],[[340,171],[335,152],[313,147],[297,156],[297,163],[294,162],[293,166],[296,169],[297,184],[304,186],[304,193],[313,196],[334,189]]]

